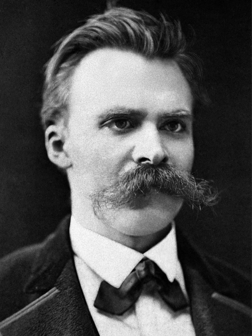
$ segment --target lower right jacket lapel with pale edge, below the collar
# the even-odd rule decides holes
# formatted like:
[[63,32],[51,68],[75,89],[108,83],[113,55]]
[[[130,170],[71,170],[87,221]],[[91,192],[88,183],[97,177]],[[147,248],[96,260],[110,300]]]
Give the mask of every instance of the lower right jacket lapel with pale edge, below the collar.
[[195,269],[190,275],[189,296],[197,336],[251,335],[251,309],[240,302],[215,292]]

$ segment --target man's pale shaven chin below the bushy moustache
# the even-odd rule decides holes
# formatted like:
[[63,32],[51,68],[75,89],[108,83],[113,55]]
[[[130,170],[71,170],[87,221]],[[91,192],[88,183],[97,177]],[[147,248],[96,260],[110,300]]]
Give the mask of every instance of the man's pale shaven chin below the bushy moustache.
[[[145,205],[144,205],[145,202]],[[183,200],[157,193],[131,208],[110,210],[110,223],[127,236],[152,235],[167,227],[179,212]]]

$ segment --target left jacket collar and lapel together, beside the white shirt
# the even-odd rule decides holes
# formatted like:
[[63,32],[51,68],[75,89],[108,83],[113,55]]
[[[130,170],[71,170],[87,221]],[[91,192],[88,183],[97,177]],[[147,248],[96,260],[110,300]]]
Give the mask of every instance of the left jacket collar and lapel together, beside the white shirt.
[[38,250],[25,288],[37,299],[3,321],[0,335],[99,335],[76,275],[69,220],[61,223]]

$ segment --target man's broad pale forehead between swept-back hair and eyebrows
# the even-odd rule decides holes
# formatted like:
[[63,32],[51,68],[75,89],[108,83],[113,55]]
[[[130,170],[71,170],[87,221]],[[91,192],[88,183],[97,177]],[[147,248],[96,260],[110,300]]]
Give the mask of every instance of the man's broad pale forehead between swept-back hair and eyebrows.
[[190,86],[175,61],[111,48],[95,50],[81,60],[69,98],[71,114],[96,114],[114,106],[191,110],[192,103]]

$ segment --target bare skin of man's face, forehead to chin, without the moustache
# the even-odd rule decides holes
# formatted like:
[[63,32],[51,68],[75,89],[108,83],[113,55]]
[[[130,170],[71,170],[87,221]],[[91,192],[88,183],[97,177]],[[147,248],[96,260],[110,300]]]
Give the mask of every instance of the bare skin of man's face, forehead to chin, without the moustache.
[[[110,48],[85,56],[72,79],[65,143],[73,200],[85,206],[90,195],[138,164],[191,171],[192,105],[190,87],[172,60]],[[180,198],[154,190],[134,209],[106,210],[107,223],[127,235],[152,234],[181,205]]]

